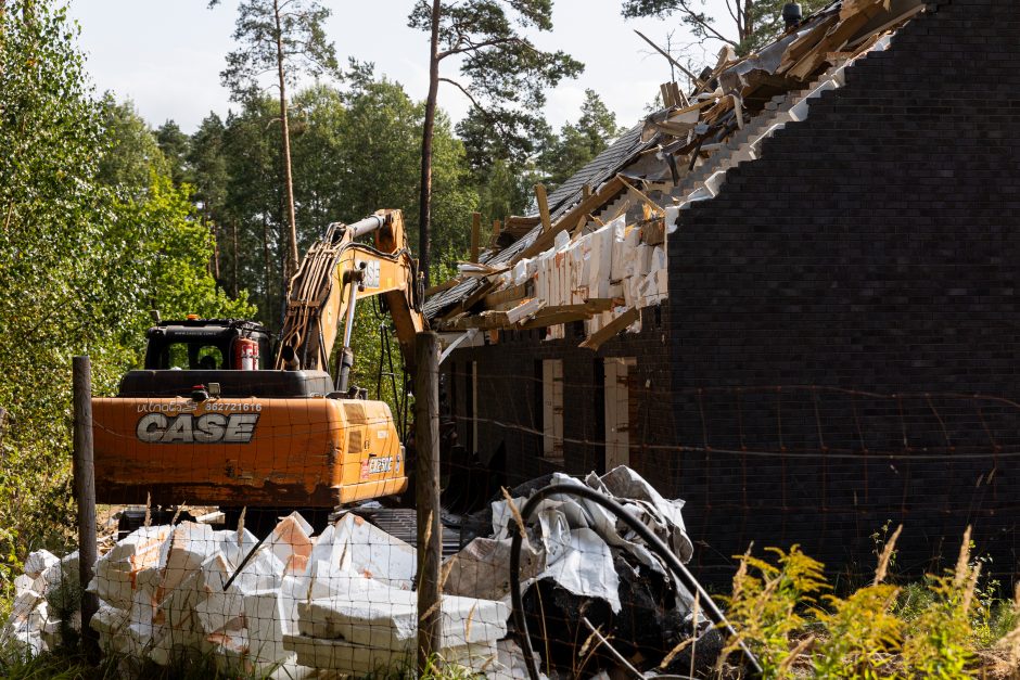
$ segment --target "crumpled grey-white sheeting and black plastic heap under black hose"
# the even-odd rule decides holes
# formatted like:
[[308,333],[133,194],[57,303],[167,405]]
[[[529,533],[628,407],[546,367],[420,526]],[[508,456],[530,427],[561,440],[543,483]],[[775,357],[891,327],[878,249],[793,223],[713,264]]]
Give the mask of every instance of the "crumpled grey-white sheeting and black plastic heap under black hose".
[[[510,537],[520,530],[527,496],[546,483],[596,489],[650,528],[681,562],[690,560],[683,501],[664,499],[626,466],[589,474],[584,482],[553,473],[518,487],[476,517],[490,522],[492,535],[474,539],[447,563],[444,592],[509,601]],[[715,660],[722,638],[696,612],[694,596],[598,503],[565,493],[550,497],[527,521],[525,539],[520,578],[528,632],[533,647],[548,654],[553,667],[577,672],[587,663],[586,675],[611,672],[622,656],[641,670],[686,671],[696,631],[698,659]]]

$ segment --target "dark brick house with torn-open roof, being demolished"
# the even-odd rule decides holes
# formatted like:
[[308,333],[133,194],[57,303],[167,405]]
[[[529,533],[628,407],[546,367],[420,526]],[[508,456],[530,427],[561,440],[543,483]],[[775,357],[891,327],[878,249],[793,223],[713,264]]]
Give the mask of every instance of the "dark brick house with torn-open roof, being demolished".
[[[1020,5],[845,0],[722,61],[430,298],[461,338],[442,367],[460,441],[509,484],[629,464],[686,500],[709,580],[752,540],[867,570],[890,521],[901,568],[952,561],[970,524],[1012,575]],[[611,290],[607,311],[575,277],[544,288],[569,304],[531,303],[544,274],[521,262],[570,260],[617,214],[616,256],[639,229],[666,294]]]

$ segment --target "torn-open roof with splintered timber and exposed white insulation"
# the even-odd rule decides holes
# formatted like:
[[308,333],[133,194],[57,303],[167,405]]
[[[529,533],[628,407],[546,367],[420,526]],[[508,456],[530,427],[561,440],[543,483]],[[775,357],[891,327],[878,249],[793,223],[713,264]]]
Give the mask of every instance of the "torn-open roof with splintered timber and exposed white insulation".
[[[667,236],[683,210],[715,197],[727,170],[806,119],[812,100],[842,87],[846,68],[885,50],[925,9],[922,0],[833,2],[756,53],[738,59],[727,46],[714,67],[690,74],[689,93],[663,85],[663,110],[552,194],[537,185],[537,215],[497,221],[489,247],[426,292],[433,325],[467,333],[461,343],[495,344],[500,332],[557,338],[563,324],[584,322],[582,347],[591,349],[639,331],[639,310],[668,295]],[[472,243],[479,228],[476,219]]]

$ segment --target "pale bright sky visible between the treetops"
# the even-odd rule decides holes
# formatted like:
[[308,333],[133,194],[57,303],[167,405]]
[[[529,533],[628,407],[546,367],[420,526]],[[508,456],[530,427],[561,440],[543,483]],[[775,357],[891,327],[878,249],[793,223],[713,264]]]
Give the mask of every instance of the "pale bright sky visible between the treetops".
[[[707,0],[706,4],[710,11],[725,12],[723,2]],[[424,98],[428,42],[423,34],[407,27],[412,0],[323,3],[333,10],[327,33],[343,61],[355,56],[374,62],[377,73],[401,82],[411,97]],[[230,105],[219,72],[233,47],[230,36],[237,4],[237,0],[225,0],[208,10],[207,0],[75,0],[71,14],[81,25],[80,43],[97,89],[133,100],[153,126],[173,118],[190,132],[209,111],[224,115]],[[654,98],[659,84],[668,80],[666,61],[653,54],[633,29],[660,44],[665,44],[671,30],[674,43],[689,38],[675,21],[625,22],[620,7],[621,0],[556,0],[553,31],[534,36],[540,47],[562,49],[586,64],[578,79],[562,82],[549,93],[545,113],[554,127],[577,117],[586,88],[599,92],[616,113],[617,123],[632,125]],[[714,62],[714,56],[705,60]],[[455,120],[469,107],[450,86],[441,86],[439,105]]]

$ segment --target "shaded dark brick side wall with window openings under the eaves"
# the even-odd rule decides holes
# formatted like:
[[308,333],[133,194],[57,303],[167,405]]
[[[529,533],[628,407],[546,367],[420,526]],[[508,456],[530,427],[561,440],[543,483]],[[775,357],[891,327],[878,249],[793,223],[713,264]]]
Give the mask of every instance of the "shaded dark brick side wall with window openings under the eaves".
[[[550,472],[584,475],[604,472],[603,367],[605,357],[635,357],[633,382],[654,399],[639,399],[632,441],[651,442],[672,431],[671,372],[666,316],[668,305],[642,310],[641,332],[605,343],[599,351],[579,349],[585,336],[577,325],[566,326],[566,337],[541,339],[539,331],[503,333],[499,343],[455,350],[442,367],[452,412],[458,418],[458,437],[469,440],[471,361],[479,372],[480,458],[488,462],[506,454],[507,483],[525,482]],[[563,462],[541,457],[541,361],[563,361]],[[632,464],[653,471],[665,456],[642,450],[632,442]],[[643,474],[643,472],[642,472]]]

